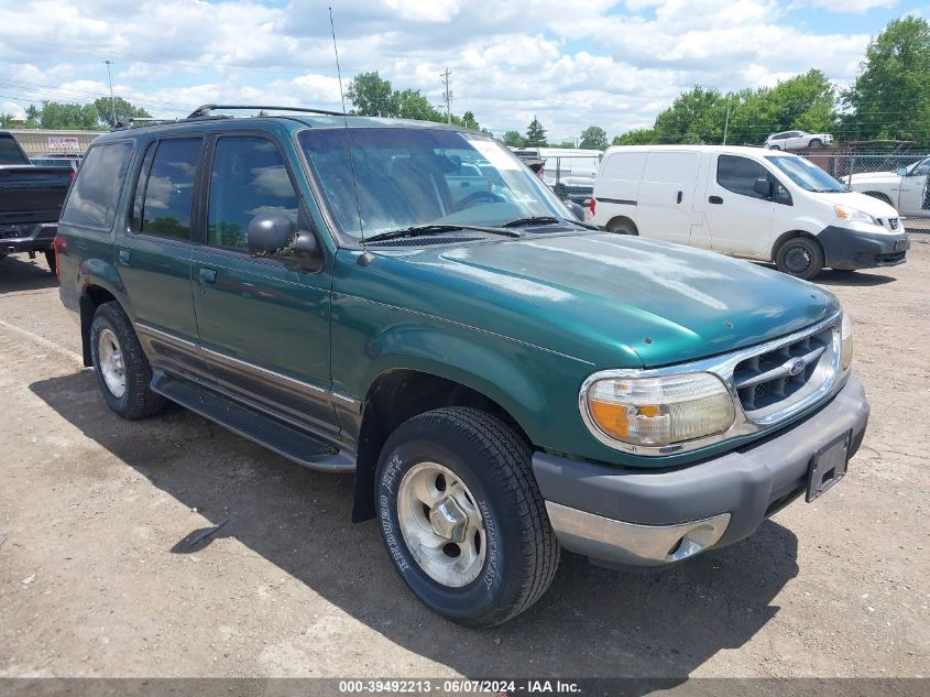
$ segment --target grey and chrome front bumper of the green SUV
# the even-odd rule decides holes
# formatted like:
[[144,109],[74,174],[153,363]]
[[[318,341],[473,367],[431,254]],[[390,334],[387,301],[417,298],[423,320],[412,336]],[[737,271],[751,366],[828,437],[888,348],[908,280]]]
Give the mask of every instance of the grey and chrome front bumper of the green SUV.
[[805,492],[813,455],[868,422],[862,383],[850,377],[829,403],[784,431],[676,469],[616,469],[537,453],[533,470],[562,546],[620,565],[661,566],[753,534]]

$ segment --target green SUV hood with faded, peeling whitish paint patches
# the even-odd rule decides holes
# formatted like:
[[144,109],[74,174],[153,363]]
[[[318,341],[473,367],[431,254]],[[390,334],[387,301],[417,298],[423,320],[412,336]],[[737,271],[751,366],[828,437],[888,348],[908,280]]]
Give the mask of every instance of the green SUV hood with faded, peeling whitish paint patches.
[[[380,258],[370,269],[385,283],[360,294],[599,368],[704,358],[839,308],[830,292],[763,266],[610,233],[389,249],[370,248]],[[391,288],[389,275],[408,284]]]

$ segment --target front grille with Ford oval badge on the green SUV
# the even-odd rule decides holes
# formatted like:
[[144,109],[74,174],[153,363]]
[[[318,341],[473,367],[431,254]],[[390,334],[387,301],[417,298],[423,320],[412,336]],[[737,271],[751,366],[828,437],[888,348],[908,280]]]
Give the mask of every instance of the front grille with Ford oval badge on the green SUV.
[[733,369],[733,388],[750,421],[777,416],[832,381],[839,368],[836,327],[820,328]]

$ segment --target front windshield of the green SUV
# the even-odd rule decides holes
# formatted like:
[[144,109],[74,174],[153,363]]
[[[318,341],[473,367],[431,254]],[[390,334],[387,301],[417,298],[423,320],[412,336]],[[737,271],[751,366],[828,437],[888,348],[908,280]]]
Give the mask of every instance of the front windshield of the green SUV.
[[490,138],[427,128],[353,128],[350,161],[346,135],[346,129],[310,129],[299,142],[347,236],[569,215],[538,177]]

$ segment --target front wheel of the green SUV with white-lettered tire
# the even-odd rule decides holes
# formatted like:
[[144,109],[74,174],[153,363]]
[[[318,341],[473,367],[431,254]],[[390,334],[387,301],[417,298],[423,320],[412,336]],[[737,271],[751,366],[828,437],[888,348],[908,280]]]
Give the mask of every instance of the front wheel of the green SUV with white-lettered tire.
[[435,612],[492,627],[546,592],[559,544],[530,459],[512,428],[474,409],[419,414],[387,439],[375,479],[381,535]]

